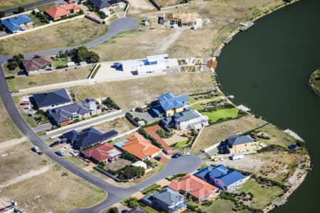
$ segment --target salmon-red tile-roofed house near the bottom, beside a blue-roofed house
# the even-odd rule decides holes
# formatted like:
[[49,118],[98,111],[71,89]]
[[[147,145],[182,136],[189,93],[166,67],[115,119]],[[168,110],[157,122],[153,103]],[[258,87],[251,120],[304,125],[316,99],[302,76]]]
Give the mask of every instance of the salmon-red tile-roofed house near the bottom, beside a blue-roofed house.
[[191,195],[196,202],[207,202],[218,196],[219,189],[194,175],[186,175],[172,181],[168,187],[178,192]]

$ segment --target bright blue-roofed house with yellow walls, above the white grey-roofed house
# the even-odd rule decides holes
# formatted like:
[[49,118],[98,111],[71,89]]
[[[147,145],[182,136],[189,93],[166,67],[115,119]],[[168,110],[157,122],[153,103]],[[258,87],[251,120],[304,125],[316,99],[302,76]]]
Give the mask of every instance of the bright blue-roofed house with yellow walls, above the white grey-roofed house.
[[189,98],[186,94],[176,97],[174,94],[169,92],[162,94],[156,99],[157,101],[154,102],[151,107],[151,114],[159,117],[167,117],[183,111]]

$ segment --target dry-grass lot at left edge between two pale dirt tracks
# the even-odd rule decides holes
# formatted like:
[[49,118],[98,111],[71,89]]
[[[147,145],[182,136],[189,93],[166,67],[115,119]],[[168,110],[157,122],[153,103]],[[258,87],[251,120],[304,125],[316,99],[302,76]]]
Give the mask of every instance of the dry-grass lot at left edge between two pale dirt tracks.
[[32,147],[30,142],[23,142],[0,150],[0,155],[7,154],[6,157],[0,157],[1,183],[28,173],[30,170],[37,170],[50,162],[46,156],[31,151]]

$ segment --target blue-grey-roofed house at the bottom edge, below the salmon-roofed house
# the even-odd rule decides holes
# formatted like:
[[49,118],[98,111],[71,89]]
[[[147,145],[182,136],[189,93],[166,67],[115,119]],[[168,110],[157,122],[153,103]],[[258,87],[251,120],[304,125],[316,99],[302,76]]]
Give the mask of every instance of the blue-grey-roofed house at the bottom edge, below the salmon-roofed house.
[[141,202],[149,205],[159,212],[168,213],[183,212],[186,210],[188,205],[186,197],[174,190],[171,190],[169,187],[165,187],[161,192],[146,195],[142,198]]

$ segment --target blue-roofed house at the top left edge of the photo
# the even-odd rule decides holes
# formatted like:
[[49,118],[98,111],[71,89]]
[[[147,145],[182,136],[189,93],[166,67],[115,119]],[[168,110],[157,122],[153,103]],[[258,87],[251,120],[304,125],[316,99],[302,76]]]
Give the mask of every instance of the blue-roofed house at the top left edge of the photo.
[[6,28],[6,31],[10,33],[16,33],[18,31],[25,31],[33,25],[33,20],[26,14],[20,16],[14,16],[1,20],[1,25]]

